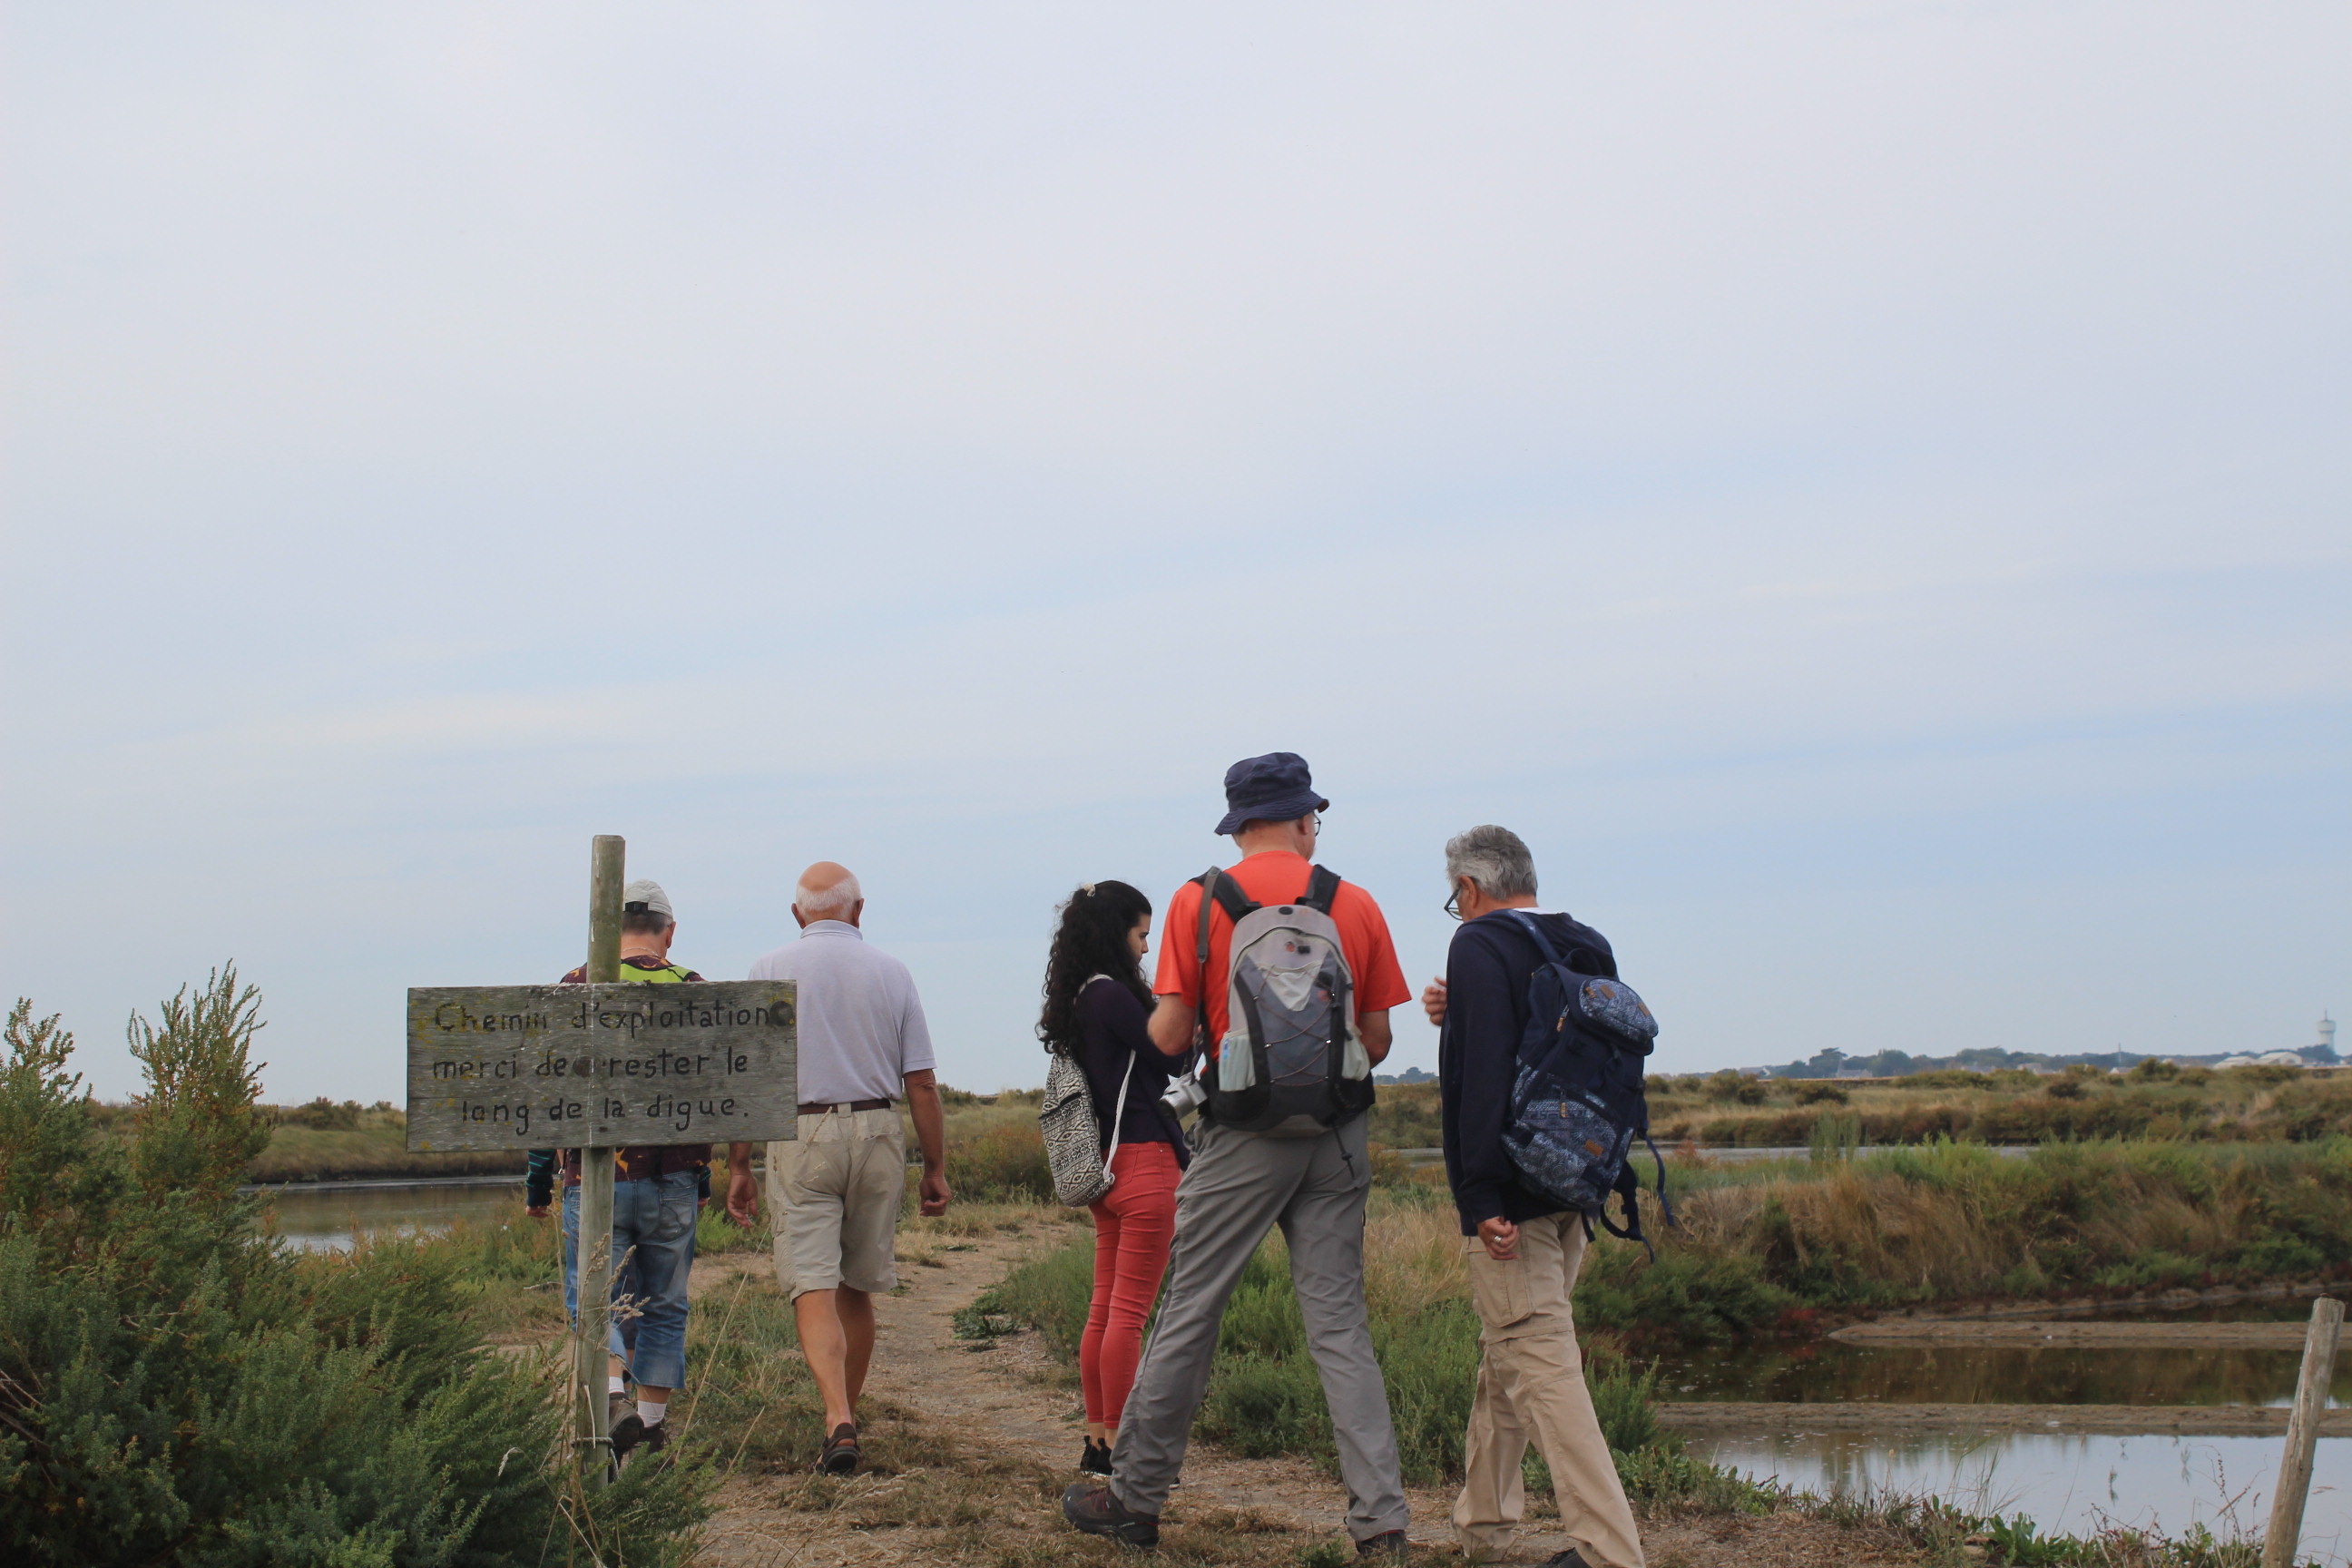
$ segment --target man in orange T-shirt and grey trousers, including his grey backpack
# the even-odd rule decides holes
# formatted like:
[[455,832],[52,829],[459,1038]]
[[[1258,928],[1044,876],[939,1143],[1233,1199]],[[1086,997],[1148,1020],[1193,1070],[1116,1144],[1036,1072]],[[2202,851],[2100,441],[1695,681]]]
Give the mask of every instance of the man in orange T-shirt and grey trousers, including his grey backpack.
[[[1221,1091],[1211,1093],[1192,1128],[1192,1166],[1176,1190],[1167,1298],[1120,1418],[1110,1483],[1080,1481],[1063,1493],[1063,1516],[1089,1535],[1136,1547],[1160,1540],[1160,1509],[1183,1469],[1192,1415],[1209,1389],[1209,1359],[1216,1354],[1225,1300],[1258,1241],[1279,1225],[1291,1251],[1291,1284],[1308,1349],[1331,1406],[1331,1439],[1348,1483],[1348,1535],[1362,1556],[1404,1556],[1397,1432],[1388,1418],[1388,1387],[1371,1354],[1364,1314],[1364,1201],[1371,1194],[1371,1161],[1362,1107],[1371,1105],[1371,1065],[1388,1056],[1388,1009],[1409,1001],[1414,992],[1397,966],[1381,905],[1364,889],[1336,882],[1312,865],[1329,804],[1315,792],[1305,759],[1294,752],[1235,762],[1225,771],[1228,811],[1216,832],[1232,835],[1242,860],[1202,879],[1228,884],[1209,907],[1207,964],[1200,959],[1200,917],[1209,891],[1202,882],[1188,882],[1169,900],[1152,1044],[1164,1056],[1183,1058],[1207,1016],[1209,1056],[1221,1063],[1211,1067],[1209,1081]],[[1272,945],[1289,954],[1310,952],[1319,969],[1298,971],[1312,985],[1272,976],[1256,997],[1244,990],[1251,1016],[1237,1027],[1228,1016],[1237,919],[1247,922],[1240,929],[1249,973],[1254,954],[1268,947],[1268,912],[1291,922],[1272,931]],[[1334,929],[1338,954],[1329,952]],[[1334,957],[1345,966],[1331,964]],[[1282,957],[1272,964],[1279,966]],[[1277,992],[1284,990],[1287,1004],[1301,1009],[1301,1016],[1315,1018],[1312,1009],[1324,1009],[1312,1032],[1289,1030],[1279,1041],[1289,1051],[1301,1041],[1312,1048],[1312,1070],[1287,1077],[1282,1053],[1254,1039],[1261,1025],[1268,1032],[1284,1027],[1270,1013],[1282,1004]],[[1322,1093],[1324,1081],[1329,1098]],[[1256,1119],[1244,1114],[1265,1103],[1270,1088],[1287,1093],[1289,1105],[1319,1105],[1322,1112],[1279,1117],[1277,1107]],[[1256,1100],[1249,1098],[1251,1091]]]

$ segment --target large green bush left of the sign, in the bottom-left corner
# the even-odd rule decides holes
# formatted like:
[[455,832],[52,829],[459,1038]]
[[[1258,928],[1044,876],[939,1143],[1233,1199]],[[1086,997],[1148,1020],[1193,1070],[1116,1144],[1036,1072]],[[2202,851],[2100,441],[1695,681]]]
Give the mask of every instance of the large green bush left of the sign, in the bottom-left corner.
[[256,1232],[256,1011],[228,969],[134,1018],[146,1093],[120,1138],[66,1072],[71,1034],[9,1016],[0,1537],[49,1563],[677,1561],[706,1472],[576,1490],[541,1371],[477,1347],[461,1248],[322,1258]]

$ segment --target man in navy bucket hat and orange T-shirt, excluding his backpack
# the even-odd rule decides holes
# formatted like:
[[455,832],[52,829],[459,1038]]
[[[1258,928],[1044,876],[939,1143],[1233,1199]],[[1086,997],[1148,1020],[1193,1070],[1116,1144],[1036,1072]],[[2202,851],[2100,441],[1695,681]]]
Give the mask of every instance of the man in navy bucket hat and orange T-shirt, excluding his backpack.
[[[1225,769],[1225,818],[1242,860],[1225,872],[1261,905],[1301,903],[1312,879],[1315,844],[1327,802],[1296,752],[1249,757]],[[1202,886],[1188,882],[1169,900],[1160,938],[1160,1004],[1150,1018],[1152,1044],[1174,1058],[1192,1048],[1207,1020],[1211,1053],[1225,1039],[1225,966],[1232,919],[1211,910],[1209,964],[1202,973],[1197,926]],[[1341,882],[1331,924],[1355,985],[1357,1034],[1364,1053],[1388,1056],[1388,1009],[1409,1001],[1397,947],[1371,893]],[[1291,1284],[1305,1319],[1308,1349],[1331,1406],[1331,1439],[1348,1483],[1348,1535],[1362,1556],[1404,1554],[1404,1481],[1397,1434],[1388,1418],[1388,1387],[1371,1354],[1364,1314],[1364,1201],[1371,1159],[1364,1117],[1308,1135],[1282,1138],[1216,1126],[1192,1128],[1192,1166],[1176,1190],[1176,1248],[1169,1255],[1160,1321],[1136,1368],[1134,1392],[1110,1455],[1110,1483],[1077,1483],[1063,1493],[1063,1516],[1089,1535],[1148,1547],[1160,1540],[1160,1509],[1183,1467],[1192,1415],[1209,1389],[1225,1300],[1242,1267],[1275,1225],[1291,1251]]]

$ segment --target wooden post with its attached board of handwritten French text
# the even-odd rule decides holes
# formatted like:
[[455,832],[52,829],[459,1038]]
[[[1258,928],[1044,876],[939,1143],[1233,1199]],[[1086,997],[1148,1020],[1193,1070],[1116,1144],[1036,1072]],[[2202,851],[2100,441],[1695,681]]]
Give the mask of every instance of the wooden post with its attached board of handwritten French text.
[[574,1448],[609,1474],[612,1150],[769,1143],[797,1128],[790,980],[621,983],[626,844],[597,835],[588,875],[588,985],[409,990],[409,1147],[581,1150]]

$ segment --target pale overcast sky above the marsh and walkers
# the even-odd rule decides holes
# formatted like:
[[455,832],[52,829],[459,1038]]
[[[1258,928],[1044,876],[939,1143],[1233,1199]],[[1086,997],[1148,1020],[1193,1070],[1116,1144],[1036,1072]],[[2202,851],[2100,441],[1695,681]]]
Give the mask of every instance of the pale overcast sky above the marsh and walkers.
[[[5,7],[0,987],[268,1093],[847,860],[943,1077],[1235,757],[1663,1070],[2352,1006],[2340,5]],[[1435,1065],[1402,1020],[1395,1065]]]

